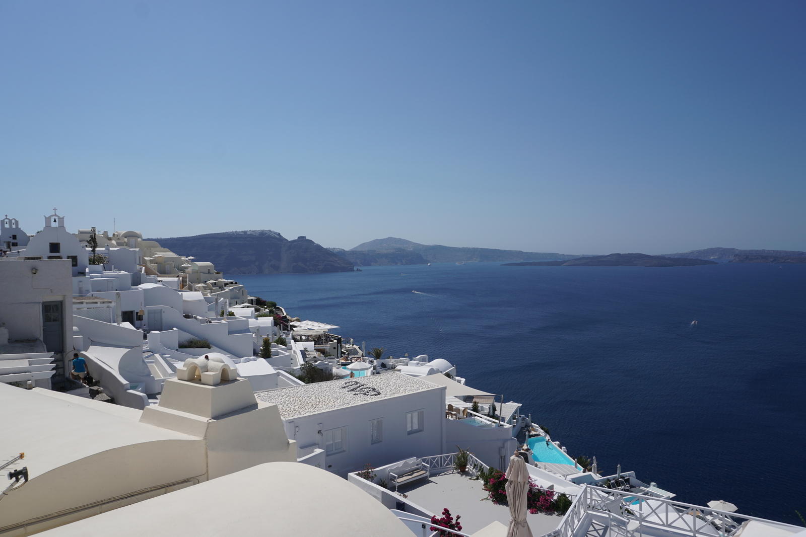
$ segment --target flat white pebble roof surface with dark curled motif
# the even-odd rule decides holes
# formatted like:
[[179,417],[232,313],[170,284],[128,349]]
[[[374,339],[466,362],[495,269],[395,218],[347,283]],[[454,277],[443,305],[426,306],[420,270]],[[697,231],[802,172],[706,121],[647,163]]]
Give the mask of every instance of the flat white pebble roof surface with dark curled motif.
[[283,419],[289,419],[441,387],[405,374],[384,373],[257,391],[255,397],[263,403],[276,404]]

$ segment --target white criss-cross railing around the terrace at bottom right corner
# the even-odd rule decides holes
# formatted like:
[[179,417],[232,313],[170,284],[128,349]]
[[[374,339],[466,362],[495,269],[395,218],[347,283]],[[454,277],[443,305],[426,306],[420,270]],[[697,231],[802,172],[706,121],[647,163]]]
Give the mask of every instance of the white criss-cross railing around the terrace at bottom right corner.
[[613,533],[626,531],[625,535],[636,537],[657,535],[659,529],[692,537],[731,537],[742,528],[742,523],[750,520],[792,532],[802,529],[710,507],[585,485],[557,529],[543,537],[572,537],[580,524],[591,523],[589,514],[606,518]]

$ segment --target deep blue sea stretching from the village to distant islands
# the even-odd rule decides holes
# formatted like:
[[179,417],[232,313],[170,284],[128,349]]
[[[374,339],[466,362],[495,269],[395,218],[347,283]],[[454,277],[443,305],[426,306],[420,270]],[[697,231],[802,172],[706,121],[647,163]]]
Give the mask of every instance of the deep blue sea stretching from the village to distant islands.
[[681,502],[806,515],[806,265],[231,278],[368,349],[447,359],[468,385],[523,403],[572,456],[596,456],[600,472],[621,464]]

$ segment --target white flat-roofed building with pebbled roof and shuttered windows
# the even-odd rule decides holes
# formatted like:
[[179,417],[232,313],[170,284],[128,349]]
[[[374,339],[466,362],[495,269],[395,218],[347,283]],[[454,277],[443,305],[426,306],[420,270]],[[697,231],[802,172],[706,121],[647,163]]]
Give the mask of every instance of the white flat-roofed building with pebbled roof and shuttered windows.
[[365,464],[444,452],[445,388],[401,374],[261,391],[276,404],[297,457],[346,477]]

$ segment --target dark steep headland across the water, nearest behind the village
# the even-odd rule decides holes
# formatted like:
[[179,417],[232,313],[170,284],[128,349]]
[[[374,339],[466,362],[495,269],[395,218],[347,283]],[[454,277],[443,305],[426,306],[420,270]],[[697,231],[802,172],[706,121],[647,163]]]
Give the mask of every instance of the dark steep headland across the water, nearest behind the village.
[[280,233],[264,229],[148,240],[179,255],[212,262],[217,271],[227,275],[354,270],[346,258],[308,238],[289,241]]

